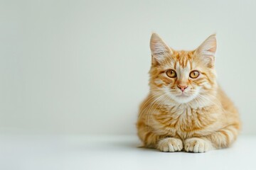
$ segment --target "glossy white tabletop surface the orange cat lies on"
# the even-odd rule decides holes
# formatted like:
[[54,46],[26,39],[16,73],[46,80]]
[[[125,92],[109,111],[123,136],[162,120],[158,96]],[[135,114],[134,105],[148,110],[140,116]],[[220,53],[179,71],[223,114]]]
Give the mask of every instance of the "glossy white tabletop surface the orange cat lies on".
[[137,147],[136,136],[0,136],[3,170],[256,169],[256,137],[203,154]]

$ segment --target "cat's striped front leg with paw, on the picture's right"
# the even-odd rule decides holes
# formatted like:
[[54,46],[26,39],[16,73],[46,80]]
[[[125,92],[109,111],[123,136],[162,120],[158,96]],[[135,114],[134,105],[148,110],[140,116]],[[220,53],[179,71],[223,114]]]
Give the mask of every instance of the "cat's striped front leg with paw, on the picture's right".
[[238,136],[238,130],[239,124],[233,124],[210,135],[189,138],[184,142],[184,149],[186,152],[207,152],[229,147]]

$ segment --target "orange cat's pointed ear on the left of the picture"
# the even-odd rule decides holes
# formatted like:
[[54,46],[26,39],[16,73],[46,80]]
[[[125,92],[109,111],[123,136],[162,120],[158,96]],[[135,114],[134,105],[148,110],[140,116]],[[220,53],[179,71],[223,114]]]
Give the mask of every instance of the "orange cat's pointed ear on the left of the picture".
[[166,56],[172,55],[173,53],[168,45],[166,45],[166,43],[156,33],[152,33],[151,35],[150,50],[152,64],[161,63]]

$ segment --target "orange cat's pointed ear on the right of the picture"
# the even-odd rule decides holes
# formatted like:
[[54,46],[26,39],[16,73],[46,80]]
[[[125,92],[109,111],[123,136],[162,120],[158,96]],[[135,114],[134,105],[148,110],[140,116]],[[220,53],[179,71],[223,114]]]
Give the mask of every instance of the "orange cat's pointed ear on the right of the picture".
[[213,68],[217,49],[216,35],[210,35],[197,49],[196,55],[207,67]]

